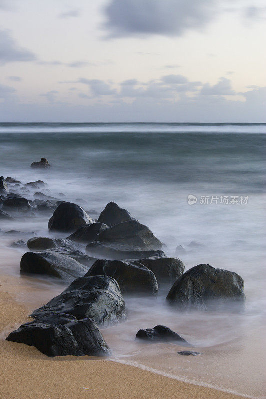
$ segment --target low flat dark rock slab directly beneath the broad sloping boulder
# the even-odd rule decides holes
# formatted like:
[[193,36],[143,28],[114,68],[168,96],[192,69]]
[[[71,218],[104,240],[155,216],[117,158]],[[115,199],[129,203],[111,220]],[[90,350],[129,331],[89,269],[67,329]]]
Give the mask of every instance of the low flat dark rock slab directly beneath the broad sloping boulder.
[[126,260],[141,259],[151,256],[165,256],[163,251],[143,250],[139,247],[125,246],[117,244],[107,244],[102,242],[91,242],[86,246],[86,252],[98,259]]

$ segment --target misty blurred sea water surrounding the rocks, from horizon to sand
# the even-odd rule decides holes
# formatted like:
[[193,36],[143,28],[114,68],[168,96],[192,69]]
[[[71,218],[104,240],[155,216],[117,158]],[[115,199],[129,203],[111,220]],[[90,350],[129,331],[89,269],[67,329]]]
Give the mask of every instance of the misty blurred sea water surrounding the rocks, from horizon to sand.
[[[114,201],[150,227],[167,255],[182,245],[185,271],[209,263],[244,279],[241,314],[179,313],[166,306],[170,286],[161,287],[157,299],[125,298],[128,321],[102,330],[110,360],[263,398],[265,133],[266,124],[0,124],[0,175],[22,183],[44,180],[49,195],[78,203],[93,219]],[[51,170],[30,169],[41,157]],[[33,199],[35,191],[25,196]],[[189,205],[188,195],[197,203]],[[50,234],[49,217],[0,221],[0,274],[19,276],[27,251],[10,247],[24,237],[5,231],[67,235]],[[204,246],[192,250],[191,241]],[[32,310],[64,288],[56,280],[20,278],[28,290],[18,299]],[[177,351],[183,347],[135,340],[139,328],[157,324],[203,355],[182,357]]]

